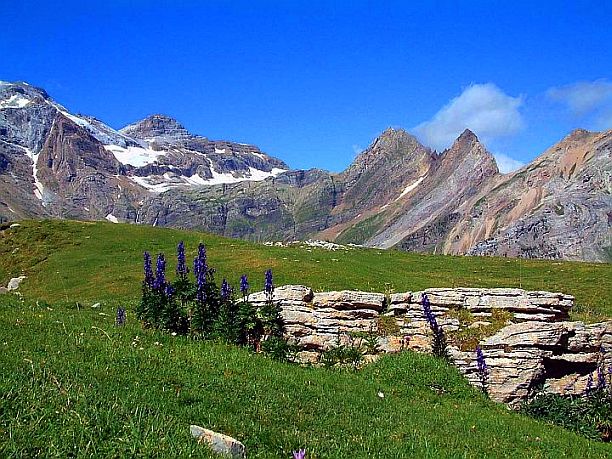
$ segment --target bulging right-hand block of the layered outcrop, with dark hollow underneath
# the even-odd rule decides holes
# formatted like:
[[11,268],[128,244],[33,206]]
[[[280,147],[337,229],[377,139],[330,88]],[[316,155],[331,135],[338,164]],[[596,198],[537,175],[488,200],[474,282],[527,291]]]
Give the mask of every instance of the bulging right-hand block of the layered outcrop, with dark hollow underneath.
[[[515,405],[538,386],[567,395],[583,394],[589,375],[612,367],[612,321],[523,322],[509,325],[480,343],[490,369],[491,398]],[[473,353],[453,350],[453,360],[478,385]]]

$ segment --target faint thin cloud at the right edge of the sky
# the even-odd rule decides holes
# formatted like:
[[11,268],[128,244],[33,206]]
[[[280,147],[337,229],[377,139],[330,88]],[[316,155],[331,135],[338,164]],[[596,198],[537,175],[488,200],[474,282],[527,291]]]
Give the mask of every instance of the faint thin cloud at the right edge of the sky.
[[560,102],[576,116],[585,116],[600,108],[612,107],[612,82],[608,80],[579,81],[556,86],[546,91],[546,96]]

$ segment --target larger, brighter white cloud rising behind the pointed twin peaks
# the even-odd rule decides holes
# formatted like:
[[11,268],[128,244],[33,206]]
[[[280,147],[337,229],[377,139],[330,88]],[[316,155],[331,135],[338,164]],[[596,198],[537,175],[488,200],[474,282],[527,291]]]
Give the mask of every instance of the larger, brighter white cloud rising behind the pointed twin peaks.
[[414,127],[423,143],[442,150],[466,128],[487,143],[519,132],[525,125],[519,108],[522,97],[511,97],[493,83],[472,84],[429,121]]

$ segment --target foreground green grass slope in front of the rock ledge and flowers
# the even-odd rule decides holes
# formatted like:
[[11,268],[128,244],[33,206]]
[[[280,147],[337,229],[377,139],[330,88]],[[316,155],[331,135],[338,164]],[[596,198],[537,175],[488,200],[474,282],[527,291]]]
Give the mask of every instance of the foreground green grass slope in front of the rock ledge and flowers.
[[0,297],[0,457],[207,457],[192,423],[239,438],[251,458],[612,454],[486,400],[430,356],[303,368],[132,317],[116,327],[110,307]]

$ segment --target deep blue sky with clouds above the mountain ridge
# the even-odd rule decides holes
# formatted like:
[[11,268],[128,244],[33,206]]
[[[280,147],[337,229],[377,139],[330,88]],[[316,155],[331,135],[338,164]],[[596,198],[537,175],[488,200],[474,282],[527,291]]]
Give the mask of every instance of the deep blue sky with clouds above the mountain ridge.
[[612,2],[40,3],[2,8],[0,80],[294,168],[340,171],[389,126],[438,150],[471,128],[505,169],[612,128]]

